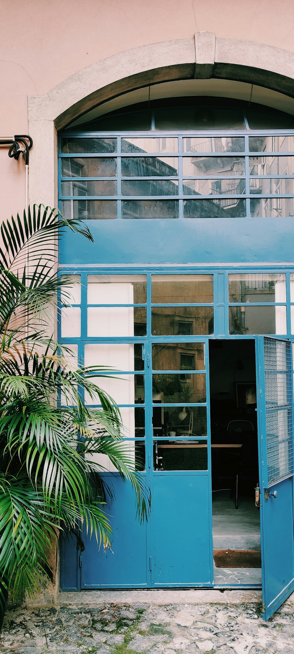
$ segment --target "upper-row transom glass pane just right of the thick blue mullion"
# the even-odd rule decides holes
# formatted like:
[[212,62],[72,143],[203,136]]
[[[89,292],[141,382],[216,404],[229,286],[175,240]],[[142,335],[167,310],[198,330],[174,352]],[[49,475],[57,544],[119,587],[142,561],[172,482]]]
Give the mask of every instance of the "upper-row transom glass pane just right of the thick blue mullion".
[[286,275],[283,273],[229,275],[229,301],[286,302]]

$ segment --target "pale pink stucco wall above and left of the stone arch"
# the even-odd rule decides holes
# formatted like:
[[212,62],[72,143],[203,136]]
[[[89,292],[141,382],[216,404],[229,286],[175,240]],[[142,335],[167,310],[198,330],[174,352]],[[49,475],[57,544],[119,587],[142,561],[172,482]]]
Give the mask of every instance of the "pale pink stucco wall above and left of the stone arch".
[[[27,96],[92,63],[197,31],[294,52],[293,0],[1,0],[0,135],[27,133]],[[3,217],[24,208],[24,165],[0,148]],[[44,198],[46,202],[46,198]]]

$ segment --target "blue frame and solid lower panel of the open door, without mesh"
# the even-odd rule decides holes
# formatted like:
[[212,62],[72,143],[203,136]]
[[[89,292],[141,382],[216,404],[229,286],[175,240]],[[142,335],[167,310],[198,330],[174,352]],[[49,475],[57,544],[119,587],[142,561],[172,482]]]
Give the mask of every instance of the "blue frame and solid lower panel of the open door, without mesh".
[[[294,590],[294,535],[293,535],[293,477],[288,477],[279,483],[266,484],[269,451],[267,449],[267,413],[269,412],[269,383],[270,375],[265,375],[265,349],[267,341],[278,345],[284,343],[285,349],[289,341],[281,339],[257,338],[257,415],[259,419],[259,485],[260,485],[260,511],[261,511],[261,572],[263,584],[263,618],[278,609]],[[286,357],[282,357],[283,365]],[[268,356],[267,356],[268,360]],[[274,365],[281,368],[281,357],[273,357]],[[292,362],[287,359],[287,366],[292,375]],[[269,368],[269,362],[267,362]],[[280,385],[278,392],[283,392]],[[278,394],[278,393],[277,393]],[[268,400],[268,402],[266,402]],[[293,411],[293,405],[291,408]],[[291,420],[293,417],[291,418]],[[283,423],[282,423],[283,424]],[[272,434],[270,434],[272,436]],[[276,438],[280,439],[280,433]],[[281,441],[281,455],[284,444]],[[265,491],[270,492],[266,500]],[[276,498],[273,493],[276,492]]]

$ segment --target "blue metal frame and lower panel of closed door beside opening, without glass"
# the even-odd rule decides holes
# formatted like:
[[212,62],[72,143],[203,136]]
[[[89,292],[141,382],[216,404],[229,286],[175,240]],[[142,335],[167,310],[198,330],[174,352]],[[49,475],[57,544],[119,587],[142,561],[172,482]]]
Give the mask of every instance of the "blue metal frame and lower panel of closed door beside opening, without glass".
[[[185,341],[186,337],[182,337]],[[188,340],[186,338],[186,340]],[[171,342],[171,337],[149,343],[152,363],[152,343]],[[153,515],[150,520],[151,587],[211,587],[213,585],[212,489],[210,452],[210,393],[208,339],[194,337],[189,343],[204,345],[206,402],[186,406],[206,407],[207,437],[197,436],[197,443],[207,442],[207,470],[154,470],[150,467]],[[172,371],[167,371],[167,373]],[[203,371],[197,371],[203,374]],[[152,366],[149,367],[149,388],[152,393]],[[157,405],[158,406],[158,405]],[[178,403],[176,404],[178,406]],[[172,407],[169,404],[168,407]],[[167,407],[167,408],[168,408]],[[150,404],[151,408],[151,404]],[[150,454],[154,436],[150,410]],[[163,441],[168,437],[165,436]],[[171,441],[172,442],[172,441]],[[180,439],[176,438],[176,443]],[[153,452],[152,452],[153,451]],[[180,453],[180,450],[179,450]],[[179,455],[180,456],[180,455]]]

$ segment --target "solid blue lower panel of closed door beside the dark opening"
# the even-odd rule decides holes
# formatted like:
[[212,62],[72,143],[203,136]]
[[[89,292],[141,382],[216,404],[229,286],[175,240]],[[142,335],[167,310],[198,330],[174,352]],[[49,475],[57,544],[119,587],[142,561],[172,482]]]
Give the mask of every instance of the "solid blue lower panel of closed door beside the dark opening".
[[154,474],[152,586],[212,582],[208,475]]

